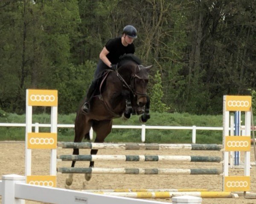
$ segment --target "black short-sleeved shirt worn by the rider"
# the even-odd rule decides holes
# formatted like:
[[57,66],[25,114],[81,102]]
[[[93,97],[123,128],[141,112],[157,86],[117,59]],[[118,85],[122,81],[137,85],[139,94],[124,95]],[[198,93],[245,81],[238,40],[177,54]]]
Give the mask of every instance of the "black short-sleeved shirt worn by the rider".
[[124,46],[121,37],[108,40],[105,47],[109,51],[107,58],[111,64],[116,64],[123,54],[134,54],[135,52],[134,44],[131,43],[131,45]]

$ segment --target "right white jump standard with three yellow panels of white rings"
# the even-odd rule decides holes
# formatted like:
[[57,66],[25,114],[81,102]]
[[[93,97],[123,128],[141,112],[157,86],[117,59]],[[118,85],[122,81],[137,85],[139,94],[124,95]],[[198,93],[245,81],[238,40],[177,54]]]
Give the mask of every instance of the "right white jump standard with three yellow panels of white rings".
[[[251,126],[251,96],[224,96],[223,98],[223,190],[250,190],[250,126]],[[245,136],[230,136],[230,111],[245,112]],[[229,152],[244,151],[244,176],[229,176]]]

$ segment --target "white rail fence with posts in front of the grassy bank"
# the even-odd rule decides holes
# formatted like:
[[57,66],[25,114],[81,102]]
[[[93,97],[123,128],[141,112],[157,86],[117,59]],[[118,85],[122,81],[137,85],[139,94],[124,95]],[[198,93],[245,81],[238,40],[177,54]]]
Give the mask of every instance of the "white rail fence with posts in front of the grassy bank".
[[[24,123],[0,123],[0,127],[26,127]],[[39,127],[51,127],[50,124],[34,123],[32,127],[35,127],[35,132],[39,131]],[[57,127],[74,128],[75,125],[58,124]],[[196,143],[196,131],[197,130],[223,130],[223,127],[198,127],[198,126],[150,126],[150,125],[113,125],[112,128],[119,129],[141,129],[141,141],[145,142],[146,129],[155,130],[192,130],[192,143]],[[93,139],[93,130],[90,130],[90,139]]]

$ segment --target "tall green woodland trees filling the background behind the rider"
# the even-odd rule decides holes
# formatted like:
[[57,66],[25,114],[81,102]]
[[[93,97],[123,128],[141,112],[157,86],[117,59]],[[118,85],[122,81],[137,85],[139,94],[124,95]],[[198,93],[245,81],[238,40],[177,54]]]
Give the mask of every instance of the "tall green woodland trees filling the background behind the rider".
[[256,89],[255,8],[255,0],[0,1],[0,108],[23,114],[26,89],[44,88],[58,89],[60,113],[73,113],[100,51],[131,24],[136,55],[160,73],[170,107],[160,110],[221,114],[223,95]]

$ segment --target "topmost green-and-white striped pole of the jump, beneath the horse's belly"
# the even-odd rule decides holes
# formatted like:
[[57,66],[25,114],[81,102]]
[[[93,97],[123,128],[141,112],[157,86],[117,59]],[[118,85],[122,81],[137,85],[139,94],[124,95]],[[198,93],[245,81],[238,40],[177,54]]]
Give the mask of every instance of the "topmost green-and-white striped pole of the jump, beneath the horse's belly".
[[215,150],[218,144],[157,144],[157,143],[92,143],[92,142],[58,142],[58,147],[75,149],[123,149],[123,150]]

